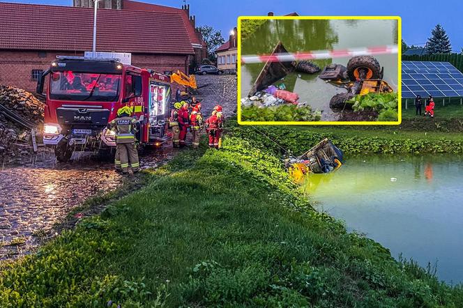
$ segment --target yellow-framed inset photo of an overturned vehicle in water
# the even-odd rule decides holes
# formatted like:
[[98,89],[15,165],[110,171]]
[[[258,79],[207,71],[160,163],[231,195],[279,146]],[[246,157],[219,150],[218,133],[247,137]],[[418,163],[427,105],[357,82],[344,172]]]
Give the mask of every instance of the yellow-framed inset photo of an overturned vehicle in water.
[[400,17],[238,18],[238,123],[398,125]]

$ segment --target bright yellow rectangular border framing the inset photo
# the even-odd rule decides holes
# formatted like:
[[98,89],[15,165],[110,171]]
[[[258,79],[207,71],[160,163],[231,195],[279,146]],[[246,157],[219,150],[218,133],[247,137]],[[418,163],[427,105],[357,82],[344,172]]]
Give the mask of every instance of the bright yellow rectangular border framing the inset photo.
[[[397,20],[397,121],[241,121],[241,20]],[[238,124],[240,125],[399,125],[402,123],[402,18],[400,16],[239,16]]]

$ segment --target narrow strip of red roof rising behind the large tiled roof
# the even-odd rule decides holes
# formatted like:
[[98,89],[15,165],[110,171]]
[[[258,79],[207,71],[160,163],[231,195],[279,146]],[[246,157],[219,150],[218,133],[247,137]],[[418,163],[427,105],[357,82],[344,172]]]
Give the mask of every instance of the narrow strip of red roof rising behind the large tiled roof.
[[138,1],[123,0],[124,10],[144,10],[149,12],[162,12],[162,13],[179,13],[182,16],[183,24],[188,31],[191,43],[204,45],[204,42],[199,39],[195,31],[195,27],[190,23],[190,16],[186,10],[181,8],[172,8],[171,6],[158,6],[157,4],[144,3]]

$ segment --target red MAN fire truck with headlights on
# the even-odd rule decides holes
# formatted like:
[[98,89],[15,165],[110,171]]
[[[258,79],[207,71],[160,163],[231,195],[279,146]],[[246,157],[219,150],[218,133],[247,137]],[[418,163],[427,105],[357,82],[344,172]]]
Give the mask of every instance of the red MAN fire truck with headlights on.
[[114,132],[106,125],[123,106],[132,107],[141,146],[169,140],[170,77],[120,63],[118,59],[58,56],[37,84],[46,84],[43,143],[66,162],[73,151],[114,152]]

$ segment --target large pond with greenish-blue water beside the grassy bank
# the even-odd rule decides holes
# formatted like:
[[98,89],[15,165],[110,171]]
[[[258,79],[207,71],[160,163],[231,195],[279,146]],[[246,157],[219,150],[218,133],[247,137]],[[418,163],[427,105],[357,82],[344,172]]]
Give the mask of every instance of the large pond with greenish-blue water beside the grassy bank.
[[463,161],[451,155],[349,158],[331,174],[303,185],[317,210],[344,220],[349,231],[412,258],[437,263],[437,276],[463,282]]

